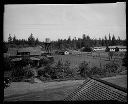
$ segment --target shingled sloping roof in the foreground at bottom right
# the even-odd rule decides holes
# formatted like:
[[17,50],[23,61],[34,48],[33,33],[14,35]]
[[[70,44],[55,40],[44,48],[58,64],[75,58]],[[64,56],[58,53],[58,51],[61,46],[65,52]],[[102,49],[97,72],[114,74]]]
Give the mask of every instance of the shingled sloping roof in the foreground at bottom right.
[[79,86],[64,100],[117,100],[126,102],[127,93],[94,79],[88,78],[83,85]]

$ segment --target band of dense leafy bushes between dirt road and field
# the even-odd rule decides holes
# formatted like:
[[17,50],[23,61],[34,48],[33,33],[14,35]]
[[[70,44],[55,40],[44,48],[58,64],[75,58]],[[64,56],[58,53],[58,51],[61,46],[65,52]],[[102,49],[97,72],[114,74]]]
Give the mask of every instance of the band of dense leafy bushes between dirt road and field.
[[[65,57],[66,59],[62,59]],[[29,60],[23,60],[25,67],[16,67],[9,60],[5,59],[6,69],[11,72],[11,77],[13,81],[23,81],[24,79],[35,77],[35,73],[37,73],[38,77],[42,81],[51,81],[51,80],[72,80],[72,79],[84,79],[86,77],[109,77],[120,74],[120,72],[125,71],[126,69],[122,67],[122,65],[126,65],[126,58],[123,58],[123,63],[117,62],[115,60],[109,60],[100,64],[100,58],[93,59],[93,63],[89,60],[89,57],[86,56],[87,60],[80,60],[83,56],[70,56],[68,59],[66,55],[62,55],[60,59],[49,60],[47,57],[40,60],[39,67],[30,67],[27,66]],[[75,61],[74,58],[78,60],[79,63],[72,64]],[[78,58],[79,57],[79,58]],[[84,59],[83,58],[83,59]],[[69,60],[71,59],[71,60]],[[99,65],[97,65],[97,62]],[[119,64],[120,63],[120,64]],[[100,66],[101,65],[101,66]]]

